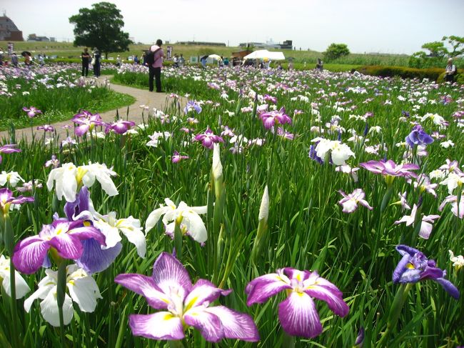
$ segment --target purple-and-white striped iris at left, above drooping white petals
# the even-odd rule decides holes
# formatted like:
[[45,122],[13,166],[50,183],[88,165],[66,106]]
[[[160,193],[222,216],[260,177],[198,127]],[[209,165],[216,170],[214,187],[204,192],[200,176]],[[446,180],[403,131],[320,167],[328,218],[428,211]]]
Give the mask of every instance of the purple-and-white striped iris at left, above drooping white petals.
[[105,245],[104,234],[95,227],[86,227],[79,220],[55,220],[52,224],[44,225],[37,236],[27,237],[16,244],[13,264],[19,272],[35,273],[46,261],[50,248],[54,248],[64,259],[79,259],[84,252],[82,241],[89,238]]

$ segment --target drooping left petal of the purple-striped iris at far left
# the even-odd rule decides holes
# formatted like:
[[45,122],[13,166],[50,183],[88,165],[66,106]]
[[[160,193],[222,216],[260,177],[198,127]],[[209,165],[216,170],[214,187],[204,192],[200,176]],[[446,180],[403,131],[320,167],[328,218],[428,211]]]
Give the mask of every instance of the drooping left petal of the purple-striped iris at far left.
[[42,240],[39,236],[23,239],[14,247],[14,267],[25,274],[37,272],[44,263],[49,248],[49,242]]

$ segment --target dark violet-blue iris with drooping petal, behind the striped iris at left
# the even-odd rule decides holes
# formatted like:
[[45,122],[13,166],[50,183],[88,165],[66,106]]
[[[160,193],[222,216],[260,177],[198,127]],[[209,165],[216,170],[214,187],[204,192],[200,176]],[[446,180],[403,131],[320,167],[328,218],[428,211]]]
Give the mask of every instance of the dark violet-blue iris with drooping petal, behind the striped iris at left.
[[[72,203],[67,202],[64,205],[64,214],[69,221],[84,220],[84,224],[91,224],[91,216],[94,212],[94,204],[90,199],[90,192],[87,187],[82,187],[79,194],[76,194],[76,200]],[[79,217],[77,219],[76,217]],[[90,238],[82,241],[84,250],[76,264],[83,268],[88,274],[102,272],[114,262],[122,249],[121,243],[116,243],[114,247],[102,249],[98,239]]]

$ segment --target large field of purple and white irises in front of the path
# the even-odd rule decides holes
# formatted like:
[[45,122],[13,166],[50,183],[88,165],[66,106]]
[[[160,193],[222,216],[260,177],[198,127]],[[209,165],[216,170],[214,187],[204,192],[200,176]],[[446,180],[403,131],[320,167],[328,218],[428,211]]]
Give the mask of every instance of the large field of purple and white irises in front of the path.
[[163,89],[143,124],[82,107],[68,139],[0,142],[1,347],[464,344],[462,86],[185,68]]

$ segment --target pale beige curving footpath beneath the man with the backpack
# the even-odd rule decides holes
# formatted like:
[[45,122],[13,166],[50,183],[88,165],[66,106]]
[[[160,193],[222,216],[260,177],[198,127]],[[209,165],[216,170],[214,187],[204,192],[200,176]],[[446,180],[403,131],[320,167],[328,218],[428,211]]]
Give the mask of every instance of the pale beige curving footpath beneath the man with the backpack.
[[[99,84],[108,84],[108,81],[111,79],[112,76],[101,76],[98,80]],[[171,99],[169,95],[166,93],[155,93],[143,89],[137,89],[129,86],[122,86],[118,84],[108,84],[109,88],[123,94],[129,94],[133,96],[136,100],[133,104],[128,106],[123,106],[119,109],[114,109],[111,111],[106,111],[103,113],[99,113],[101,119],[104,122],[113,122],[116,117],[118,116],[120,119],[133,121],[136,124],[143,123],[143,116],[142,116],[142,108],[148,109],[148,111],[152,112],[153,108],[158,110],[164,110],[166,107],[171,104]],[[181,104],[185,104],[185,101],[180,99]],[[91,113],[96,113],[96,110],[88,110]],[[144,112],[145,117],[147,117],[148,112]],[[46,118],[44,117],[44,124],[46,124]],[[54,127],[54,131],[56,132],[56,137],[59,140],[66,139],[67,136],[72,136],[74,134],[74,124],[71,119],[67,121],[56,122],[51,124],[50,126]],[[66,126],[71,126],[71,128],[67,128]],[[34,135],[33,135],[34,134]],[[24,128],[24,129],[15,129],[15,141],[18,143],[22,139],[26,141],[31,141],[34,139],[43,139],[44,137],[44,130],[37,129],[37,126],[33,126],[32,128]],[[11,136],[9,131],[0,131],[0,139],[8,139],[11,141]],[[0,140],[1,141],[1,140]]]

